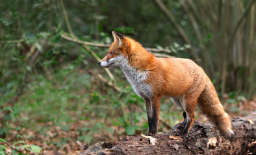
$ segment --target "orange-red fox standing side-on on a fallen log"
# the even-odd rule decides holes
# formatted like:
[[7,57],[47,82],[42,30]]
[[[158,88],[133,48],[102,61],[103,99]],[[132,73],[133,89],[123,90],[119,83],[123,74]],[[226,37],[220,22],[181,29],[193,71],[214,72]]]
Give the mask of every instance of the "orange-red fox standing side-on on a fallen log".
[[235,140],[229,115],[218,98],[211,80],[194,61],[182,58],[155,57],[129,37],[112,32],[114,42],[101,67],[120,67],[133,86],[134,92],[144,99],[147,109],[149,132],[157,134],[160,98],[170,96],[172,101],[183,108],[185,120],[180,127],[186,136],[194,121],[196,103],[220,133],[230,141]]

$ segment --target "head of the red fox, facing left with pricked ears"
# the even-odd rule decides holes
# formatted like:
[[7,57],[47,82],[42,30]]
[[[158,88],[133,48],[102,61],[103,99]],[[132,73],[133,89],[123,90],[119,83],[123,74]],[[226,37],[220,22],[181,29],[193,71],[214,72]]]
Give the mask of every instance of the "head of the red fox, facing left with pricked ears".
[[114,37],[114,42],[110,45],[107,56],[98,63],[101,67],[119,67],[123,59],[127,57],[129,38],[114,31],[112,31],[112,36]]

